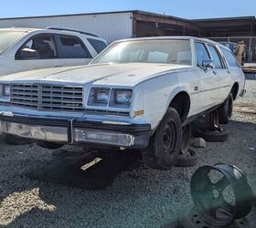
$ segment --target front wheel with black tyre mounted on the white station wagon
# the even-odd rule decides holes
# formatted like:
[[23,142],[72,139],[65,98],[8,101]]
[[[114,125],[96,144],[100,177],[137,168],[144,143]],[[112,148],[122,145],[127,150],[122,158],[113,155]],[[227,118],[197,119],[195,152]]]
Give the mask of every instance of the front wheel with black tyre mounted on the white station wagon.
[[152,136],[149,146],[142,151],[145,165],[158,170],[169,170],[176,164],[182,139],[181,120],[176,109],[169,108]]

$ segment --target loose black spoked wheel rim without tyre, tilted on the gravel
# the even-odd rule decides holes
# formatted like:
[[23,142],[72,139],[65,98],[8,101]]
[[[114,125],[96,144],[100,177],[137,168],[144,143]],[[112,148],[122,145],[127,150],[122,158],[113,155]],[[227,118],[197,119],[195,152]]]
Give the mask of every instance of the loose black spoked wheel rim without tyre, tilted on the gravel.
[[225,226],[251,212],[251,188],[235,166],[203,166],[193,175],[191,194],[197,211],[211,225]]

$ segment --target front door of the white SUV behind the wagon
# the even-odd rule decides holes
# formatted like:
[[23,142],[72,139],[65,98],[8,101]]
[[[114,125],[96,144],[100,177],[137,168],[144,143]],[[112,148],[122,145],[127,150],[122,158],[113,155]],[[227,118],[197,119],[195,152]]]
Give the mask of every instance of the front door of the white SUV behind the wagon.
[[[37,57],[22,57],[23,49],[36,52]],[[39,34],[30,37],[16,52],[16,68],[18,72],[64,66],[63,60],[59,59],[55,38],[51,34]]]

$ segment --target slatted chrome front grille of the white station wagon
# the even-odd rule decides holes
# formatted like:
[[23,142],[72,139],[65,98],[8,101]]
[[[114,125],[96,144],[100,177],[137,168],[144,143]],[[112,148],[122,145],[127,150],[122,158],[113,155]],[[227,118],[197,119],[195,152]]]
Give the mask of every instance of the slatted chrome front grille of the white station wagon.
[[12,84],[11,104],[23,108],[84,111],[83,88],[40,84]]

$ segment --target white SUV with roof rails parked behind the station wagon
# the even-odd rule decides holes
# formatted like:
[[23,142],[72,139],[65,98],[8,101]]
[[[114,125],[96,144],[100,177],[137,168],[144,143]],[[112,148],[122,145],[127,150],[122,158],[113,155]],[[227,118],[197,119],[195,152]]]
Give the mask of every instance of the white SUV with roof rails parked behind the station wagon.
[[0,76],[38,68],[86,65],[105,47],[104,39],[68,28],[1,28]]

